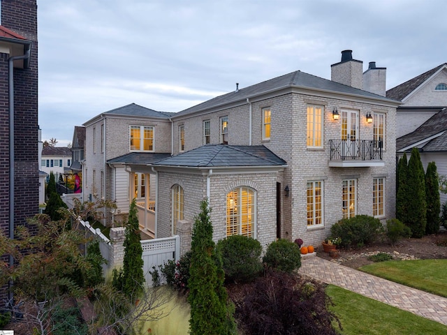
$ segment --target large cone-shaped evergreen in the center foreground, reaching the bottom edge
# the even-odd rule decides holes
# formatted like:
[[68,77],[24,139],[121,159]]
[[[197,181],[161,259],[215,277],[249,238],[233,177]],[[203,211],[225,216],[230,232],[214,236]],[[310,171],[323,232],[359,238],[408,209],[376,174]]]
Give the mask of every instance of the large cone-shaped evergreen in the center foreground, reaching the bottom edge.
[[200,203],[200,214],[193,225],[189,296],[192,335],[235,334],[234,307],[223,286],[221,259],[212,241],[212,223],[207,201]]

